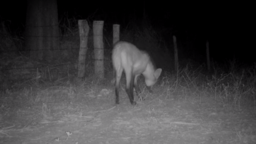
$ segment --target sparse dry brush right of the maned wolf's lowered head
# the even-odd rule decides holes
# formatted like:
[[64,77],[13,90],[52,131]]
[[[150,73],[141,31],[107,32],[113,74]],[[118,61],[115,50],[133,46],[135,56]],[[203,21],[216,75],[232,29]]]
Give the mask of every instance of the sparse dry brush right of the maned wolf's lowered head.
[[215,108],[226,110],[255,106],[255,69],[252,66],[225,73],[218,67],[212,75],[206,75],[202,67],[193,69],[188,64],[176,73],[165,72],[160,84],[164,86],[162,95],[176,100],[210,97]]

